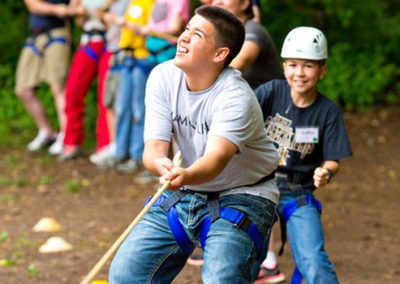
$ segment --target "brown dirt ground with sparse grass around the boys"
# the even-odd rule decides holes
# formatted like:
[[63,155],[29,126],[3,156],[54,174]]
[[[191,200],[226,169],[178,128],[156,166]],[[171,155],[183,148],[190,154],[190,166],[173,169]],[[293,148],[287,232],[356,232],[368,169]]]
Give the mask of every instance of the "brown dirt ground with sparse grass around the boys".
[[[339,175],[316,193],[324,207],[326,249],[341,283],[400,283],[400,107],[345,113],[345,120],[354,157],[343,160]],[[79,283],[156,188],[97,169],[89,151],[64,163],[45,152],[0,151],[0,283]],[[61,231],[33,232],[46,216]],[[39,253],[52,236],[73,249]],[[288,246],[279,263],[289,278]],[[95,279],[106,279],[108,267]],[[201,269],[186,265],[173,283],[201,283]]]

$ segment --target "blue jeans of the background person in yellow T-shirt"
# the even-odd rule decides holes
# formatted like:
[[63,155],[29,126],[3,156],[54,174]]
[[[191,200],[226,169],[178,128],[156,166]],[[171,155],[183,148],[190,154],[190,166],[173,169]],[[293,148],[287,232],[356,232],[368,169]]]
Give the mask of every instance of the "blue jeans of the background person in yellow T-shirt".
[[116,158],[141,160],[143,154],[144,96],[151,70],[146,59],[126,56],[121,64],[116,113]]

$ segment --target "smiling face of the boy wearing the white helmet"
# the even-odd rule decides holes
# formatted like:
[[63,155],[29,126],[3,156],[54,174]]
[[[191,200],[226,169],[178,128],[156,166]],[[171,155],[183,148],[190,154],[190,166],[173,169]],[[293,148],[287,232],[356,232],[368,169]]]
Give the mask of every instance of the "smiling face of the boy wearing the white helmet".
[[326,66],[319,61],[305,59],[286,59],[283,69],[292,94],[298,95],[315,93],[318,81],[326,72]]

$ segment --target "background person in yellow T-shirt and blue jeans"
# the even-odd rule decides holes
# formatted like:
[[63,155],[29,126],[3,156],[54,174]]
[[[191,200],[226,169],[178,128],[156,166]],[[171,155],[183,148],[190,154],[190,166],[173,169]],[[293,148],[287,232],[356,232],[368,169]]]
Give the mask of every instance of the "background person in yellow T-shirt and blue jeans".
[[[120,79],[115,100],[117,170],[135,173],[142,168],[146,82],[150,63],[146,39],[137,30],[150,19],[152,1],[130,1],[123,17],[115,19],[121,28]],[[125,161],[125,158],[128,158]]]

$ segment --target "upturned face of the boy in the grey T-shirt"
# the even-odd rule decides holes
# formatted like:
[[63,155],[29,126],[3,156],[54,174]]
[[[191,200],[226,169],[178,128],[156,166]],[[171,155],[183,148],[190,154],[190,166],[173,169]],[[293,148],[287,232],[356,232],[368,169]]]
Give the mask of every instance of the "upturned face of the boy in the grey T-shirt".
[[175,65],[185,72],[207,70],[215,64],[217,54],[214,26],[199,15],[193,16],[178,38]]

